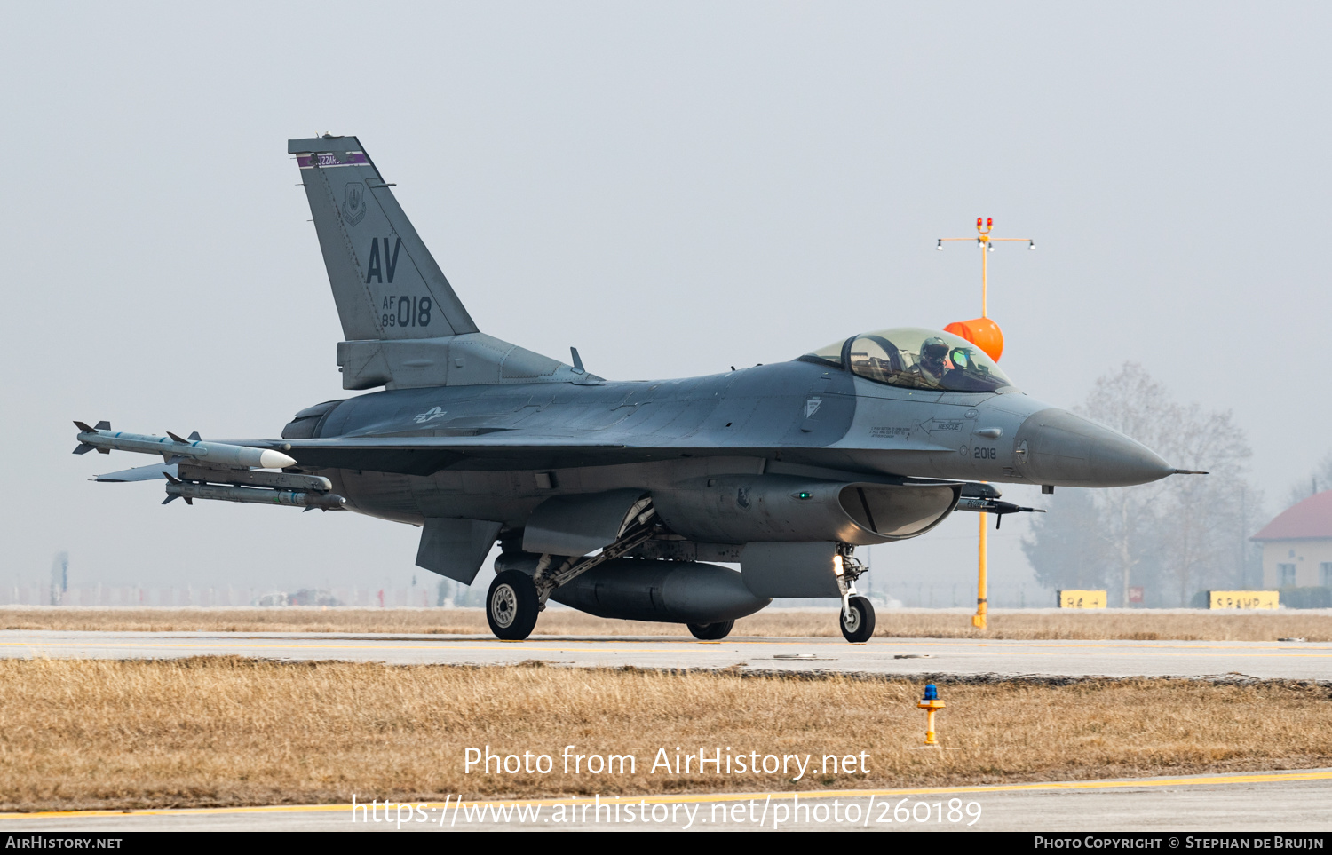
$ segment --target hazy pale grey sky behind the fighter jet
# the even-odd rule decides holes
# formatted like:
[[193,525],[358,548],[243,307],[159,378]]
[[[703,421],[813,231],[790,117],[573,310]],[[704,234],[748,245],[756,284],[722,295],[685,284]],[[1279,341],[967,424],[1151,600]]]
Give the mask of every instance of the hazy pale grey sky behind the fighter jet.
[[[1332,450],[1325,4],[11,4],[0,582],[382,583],[414,529],[85,478],[71,420],[276,435],[345,397],[288,137],[358,135],[480,328],[615,380],[978,314],[1074,405],[1143,364],[1269,498]],[[1034,501],[1034,490],[1010,489]],[[1275,510],[1275,507],[1273,507]],[[879,547],[972,574],[972,515]],[[1028,578],[1006,523],[996,585]]]

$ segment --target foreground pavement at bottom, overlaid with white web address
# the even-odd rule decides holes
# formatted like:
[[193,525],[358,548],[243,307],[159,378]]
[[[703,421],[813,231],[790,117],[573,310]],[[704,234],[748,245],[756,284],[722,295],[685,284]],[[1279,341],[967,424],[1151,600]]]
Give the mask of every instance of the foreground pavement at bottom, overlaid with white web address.
[[[0,832],[117,831],[1225,831],[1332,830],[1332,770],[1249,772],[995,787],[665,795],[619,799],[421,803],[388,814],[350,804],[3,814]],[[392,795],[382,796],[392,800]],[[599,814],[599,818],[598,818]],[[398,823],[400,818],[405,820]],[[498,818],[497,818],[498,816]],[[645,819],[646,816],[646,819]],[[376,822],[376,819],[378,822]],[[1156,848],[1175,848],[1164,838]]]

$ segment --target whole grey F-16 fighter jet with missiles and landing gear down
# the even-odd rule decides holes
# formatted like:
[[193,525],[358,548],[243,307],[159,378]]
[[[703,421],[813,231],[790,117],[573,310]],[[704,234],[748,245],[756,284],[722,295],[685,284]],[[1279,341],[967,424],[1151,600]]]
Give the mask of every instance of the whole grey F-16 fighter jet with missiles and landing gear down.
[[290,140],[288,153],[342,322],[342,388],[382,390],[302,409],[274,439],[76,422],[76,453],[161,454],[99,481],[164,477],[165,502],[417,526],[416,563],[465,585],[498,541],[486,618],[500,638],[526,638],[551,599],[718,639],[773,598],[827,597],[846,639],[863,642],[875,617],[855,589],[858,546],[918,537],[956,510],[1032,510],[987,482],[1052,491],[1179,471],[1027,397],[980,345],[935,329],[852,334],[709,377],[603,380],[577,349],[566,364],[477,329],[356,137]]

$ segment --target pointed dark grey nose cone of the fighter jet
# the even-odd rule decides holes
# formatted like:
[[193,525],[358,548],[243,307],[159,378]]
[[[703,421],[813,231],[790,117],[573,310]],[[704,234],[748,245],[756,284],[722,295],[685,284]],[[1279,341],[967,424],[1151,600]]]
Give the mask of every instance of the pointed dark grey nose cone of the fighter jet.
[[1142,442],[1055,408],[1027,417],[1014,443],[1019,471],[1036,483],[1123,487],[1175,471]]

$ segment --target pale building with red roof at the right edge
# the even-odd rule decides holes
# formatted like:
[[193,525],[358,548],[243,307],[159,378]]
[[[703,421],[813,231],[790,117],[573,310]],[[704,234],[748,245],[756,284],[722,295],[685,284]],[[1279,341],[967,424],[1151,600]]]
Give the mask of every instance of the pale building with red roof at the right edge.
[[1263,587],[1332,587],[1332,490],[1287,507],[1251,539],[1263,545]]

